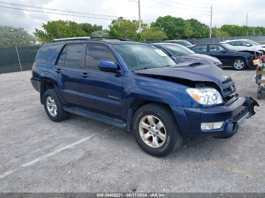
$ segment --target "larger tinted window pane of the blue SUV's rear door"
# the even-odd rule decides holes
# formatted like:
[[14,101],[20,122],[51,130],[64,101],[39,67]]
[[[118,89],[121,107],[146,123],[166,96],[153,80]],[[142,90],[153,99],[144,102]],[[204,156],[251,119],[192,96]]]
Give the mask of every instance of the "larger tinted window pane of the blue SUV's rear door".
[[65,54],[64,65],[71,67],[81,67],[83,45],[68,45]]

